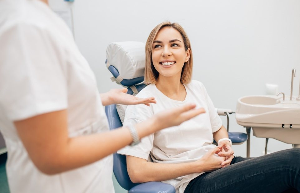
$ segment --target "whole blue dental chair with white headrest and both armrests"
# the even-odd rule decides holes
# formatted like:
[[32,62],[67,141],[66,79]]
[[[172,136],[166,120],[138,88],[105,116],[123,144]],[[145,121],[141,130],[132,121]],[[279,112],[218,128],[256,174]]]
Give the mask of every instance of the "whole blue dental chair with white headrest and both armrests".
[[[128,94],[137,94],[146,87],[144,81],[145,44],[142,42],[118,42],[108,45],[106,50],[106,67],[112,73],[112,81],[128,88]],[[105,106],[110,130],[122,127],[125,105]],[[216,109],[219,115],[227,116],[227,131],[229,129],[229,116],[233,113],[230,109]],[[232,144],[241,144],[248,139],[247,134],[229,132]],[[175,188],[163,182],[133,183],[127,172],[126,156],[114,153],[114,175],[125,190],[129,193],[175,193]]]

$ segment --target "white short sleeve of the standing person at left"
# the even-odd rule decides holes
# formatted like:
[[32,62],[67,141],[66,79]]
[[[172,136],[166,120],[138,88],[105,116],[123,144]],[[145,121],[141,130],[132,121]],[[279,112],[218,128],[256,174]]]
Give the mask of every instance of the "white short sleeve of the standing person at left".
[[55,37],[30,24],[15,24],[0,34],[0,108],[7,118],[66,109],[64,52]]

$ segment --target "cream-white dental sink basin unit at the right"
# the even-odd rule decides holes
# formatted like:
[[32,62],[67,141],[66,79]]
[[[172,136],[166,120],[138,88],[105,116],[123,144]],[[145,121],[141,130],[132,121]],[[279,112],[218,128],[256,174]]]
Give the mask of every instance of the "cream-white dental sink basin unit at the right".
[[256,137],[274,138],[300,144],[300,101],[273,95],[245,96],[238,99],[236,121],[253,128]]

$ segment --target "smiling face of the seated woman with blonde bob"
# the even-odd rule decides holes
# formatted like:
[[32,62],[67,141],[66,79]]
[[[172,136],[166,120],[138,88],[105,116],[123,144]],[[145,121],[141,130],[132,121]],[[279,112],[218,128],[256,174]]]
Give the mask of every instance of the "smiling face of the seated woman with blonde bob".
[[181,76],[185,62],[190,58],[190,49],[185,51],[181,34],[173,27],[164,27],[152,45],[152,62],[159,76]]

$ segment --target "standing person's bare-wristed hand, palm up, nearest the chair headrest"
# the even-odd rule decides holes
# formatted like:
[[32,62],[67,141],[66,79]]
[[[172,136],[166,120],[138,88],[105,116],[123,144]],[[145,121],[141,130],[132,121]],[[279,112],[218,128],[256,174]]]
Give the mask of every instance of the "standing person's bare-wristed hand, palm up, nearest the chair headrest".
[[127,94],[128,89],[111,89],[107,93],[100,94],[102,104],[104,106],[109,104],[145,104],[147,106],[150,106],[150,103],[156,103],[156,100],[154,97],[149,97],[146,99],[141,99],[138,97],[135,97],[131,94]]

